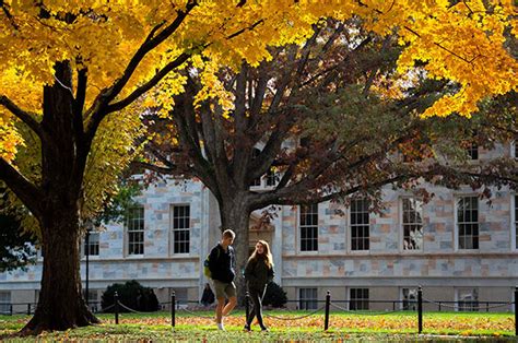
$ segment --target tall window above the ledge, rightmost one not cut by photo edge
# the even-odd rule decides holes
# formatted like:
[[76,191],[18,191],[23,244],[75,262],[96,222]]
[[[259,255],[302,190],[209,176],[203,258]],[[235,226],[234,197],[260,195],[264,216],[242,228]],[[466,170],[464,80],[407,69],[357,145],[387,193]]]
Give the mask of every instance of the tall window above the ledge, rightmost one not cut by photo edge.
[[462,197],[457,202],[459,249],[479,249],[479,199]]

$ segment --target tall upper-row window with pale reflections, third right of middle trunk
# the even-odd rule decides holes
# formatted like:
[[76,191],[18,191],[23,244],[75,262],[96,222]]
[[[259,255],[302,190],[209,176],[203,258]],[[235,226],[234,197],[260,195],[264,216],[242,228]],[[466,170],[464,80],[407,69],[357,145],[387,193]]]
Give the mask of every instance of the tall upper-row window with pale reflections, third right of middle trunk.
[[423,202],[403,199],[403,250],[423,249]]

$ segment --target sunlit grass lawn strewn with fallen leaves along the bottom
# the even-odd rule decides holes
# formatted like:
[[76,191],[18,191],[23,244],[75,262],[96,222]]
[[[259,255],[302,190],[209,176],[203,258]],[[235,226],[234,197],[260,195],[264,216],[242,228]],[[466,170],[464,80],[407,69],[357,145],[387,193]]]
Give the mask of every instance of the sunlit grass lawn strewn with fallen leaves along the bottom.
[[[373,341],[438,341],[481,340],[511,341],[515,339],[514,314],[494,312],[426,312],[423,316],[423,334],[417,334],[417,315],[413,311],[370,315],[331,312],[329,330],[323,331],[323,312],[301,318],[303,311],[266,311],[270,332],[244,332],[244,312],[235,311],[225,318],[226,331],[217,331],[212,311],[195,315],[178,311],[176,326],[170,326],[170,314],[121,314],[115,324],[113,314],[99,315],[102,324],[78,328],[64,332],[45,332],[39,341],[183,341],[183,342],[341,342]],[[202,317],[201,317],[202,316]],[[210,317],[210,318],[204,318]],[[297,320],[293,320],[298,318]],[[0,316],[0,340],[17,342],[34,338],[17,338],[15,333],[28,321],[28,316]]]

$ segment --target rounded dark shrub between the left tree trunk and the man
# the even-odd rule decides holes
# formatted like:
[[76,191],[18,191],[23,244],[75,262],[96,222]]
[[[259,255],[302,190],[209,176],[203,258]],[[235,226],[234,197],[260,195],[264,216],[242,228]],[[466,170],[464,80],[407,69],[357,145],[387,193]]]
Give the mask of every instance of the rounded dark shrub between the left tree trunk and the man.
[[[119,303],[137,311],[152,312],[158,310],[158,299],[150,287],[144,287],[137,281],[128,281],[125,284],[115,283],[103,293],[101,307],[108,308],[115,304],[115,292],[119,295]],[[106,310],[113,312],[114,307]],[[119,311],[128,310],[119,306]]]

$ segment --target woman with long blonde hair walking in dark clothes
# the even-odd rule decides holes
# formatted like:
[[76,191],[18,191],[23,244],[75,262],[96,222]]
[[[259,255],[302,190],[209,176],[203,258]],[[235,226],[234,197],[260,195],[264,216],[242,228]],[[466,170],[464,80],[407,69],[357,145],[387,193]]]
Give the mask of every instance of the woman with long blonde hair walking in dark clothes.
[[262,321],[262,297],[268,283],[273,280],[273,259],[267,241],[259,240],[256,244],[256,250],[245,267],[245,280],[248,293],[254,301],[254,308],[246,320],[245,330],[250,331],[251,321],[257,316],[261,330],[268,331]]

